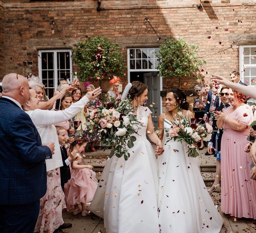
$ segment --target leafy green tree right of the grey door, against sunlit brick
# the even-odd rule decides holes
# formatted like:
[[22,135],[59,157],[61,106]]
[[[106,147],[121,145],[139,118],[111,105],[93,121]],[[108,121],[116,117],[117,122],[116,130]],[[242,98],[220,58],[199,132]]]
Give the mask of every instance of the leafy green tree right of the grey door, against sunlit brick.
[[190,45],[182,38],[165,38],[160,50],[155,52],[160,75],[164,78],[177,77],[179,80],[184,76],[201,79],[203,76],[199,68],[206,61],[199,59],[197,52],[198,46]]

